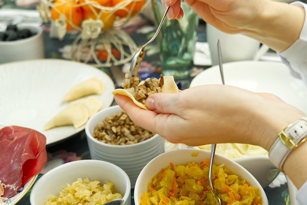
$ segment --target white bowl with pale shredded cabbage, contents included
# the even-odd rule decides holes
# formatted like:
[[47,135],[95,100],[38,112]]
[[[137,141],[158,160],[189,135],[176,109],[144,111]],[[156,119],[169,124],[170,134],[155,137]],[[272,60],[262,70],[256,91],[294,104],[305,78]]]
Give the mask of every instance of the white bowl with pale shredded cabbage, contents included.
[[131,204],[131,184],[120,167],[84,159],[53,168],[32,187],[31,205],[103,205],[114,199]]

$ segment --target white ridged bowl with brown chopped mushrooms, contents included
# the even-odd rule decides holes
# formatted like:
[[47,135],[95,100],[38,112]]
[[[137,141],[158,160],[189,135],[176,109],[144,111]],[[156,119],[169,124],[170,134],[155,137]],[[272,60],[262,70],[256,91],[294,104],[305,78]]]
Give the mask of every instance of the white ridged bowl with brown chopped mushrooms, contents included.
[[132,188],[143,167],[164,153],[164,138],[136,126],[118,105],[93,115],[85,132],[91,158],[121,167],[128,174]]

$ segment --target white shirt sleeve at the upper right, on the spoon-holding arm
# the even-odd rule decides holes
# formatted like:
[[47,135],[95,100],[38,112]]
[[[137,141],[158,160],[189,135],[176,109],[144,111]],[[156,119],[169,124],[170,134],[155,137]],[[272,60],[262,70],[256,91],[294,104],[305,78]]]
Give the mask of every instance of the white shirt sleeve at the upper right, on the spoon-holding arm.
[[300,38],[285,51],[278,53],[282,62],[290,68],[294,77],[301,78],[307,85],[307,4],[295,1],[291,5],[305,8],[305,22]]

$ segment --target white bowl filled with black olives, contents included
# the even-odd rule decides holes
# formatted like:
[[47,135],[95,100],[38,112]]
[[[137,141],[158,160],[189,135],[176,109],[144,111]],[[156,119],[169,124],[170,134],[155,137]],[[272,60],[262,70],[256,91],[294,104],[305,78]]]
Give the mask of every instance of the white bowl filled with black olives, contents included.
[[8,25],[0,31],[0,63],[41,58],[45,58],[42,28]]

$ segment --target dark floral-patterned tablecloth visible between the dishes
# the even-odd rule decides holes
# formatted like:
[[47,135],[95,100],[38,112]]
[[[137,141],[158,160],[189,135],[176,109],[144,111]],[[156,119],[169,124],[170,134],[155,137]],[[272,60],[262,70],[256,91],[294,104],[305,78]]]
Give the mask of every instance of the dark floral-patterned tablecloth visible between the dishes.
[[[0,14],[5,9],[31,9],[35,10],[35,6],[37,5],[36,0],[17,0],[16,2],[11,0],[0,0]],[[0,15],[1,16],[1,15]],[[1,23],[1,22],[0,22]],[[50,25],[42,24],[41,27],[44,29],[44,46],[45,46],[45,56],[46,58],[59,58],[59,59],[69,59],[71,45],[78,35],[77,32],[70,32],[66,34],[65,38],[62,41],[59,41],[56,38],[50,38]],[[151,21],[146,19],[144,15],[138,15],[131,19],[128,24],[122,26],[123,30],[125,30],[135,41],[137,46],[140,46],[147,42],[149,38],[153,35],[154,27]],[[199,32],[198,32],[198,45],[205,45],[206,36],[205,36],[205,23],[200,20]],[[142,62],[141,71],[143,70],[143,76],[151,76],[158,75],[161,73],[159,57],[157,54],[157,48],[155,46],[155,42],[149,46],[147,46],[146,56]],[[207,50],[206,50],[207,51]],[[205,51],[205,52],[206,52]],[[185,80],[181,80],[179,82],[179,86],[181,89],[188,88],[189,82],[193,78],[193,76],[197,75],[199,72],[204,69],[210,67],[210,59],[208,58],[208,54],[204,51],[199,51],[197,53],[197,62],[193,74],[191,77],[188,77]],[[204,59],[204,60],[201,60]],[[124,72],[127,72],[129,63],[119,66]],[[110,68],[100,68],[104,72],[106,72],[112,79],[115,79],[110,72]],[[85,132],[82,131],[65,141],[59,142],[57,144],[51,145],[47,148],[49,161],[44,168],[42,176],[48,170],[52,169],[55,166],[58,166],[62,163],[88,159],[90,158]],[[39,179],[39,177],[38,177]],[[30,205],[29,196],[31,190],[28,191],[25,197],[22,198],[17,205]],[[268,196],[269,203],[272,205],[288,205],[288,189],[287,183],[284,179],[284,176],[281,175],[276,179],[270,186],[265,188],[265,192]],[[133,195],[133,190],[131,191]],[[133,198],[133,196],[132,196]],[[132,204],[134,204],[133,200],[131,200]]]

